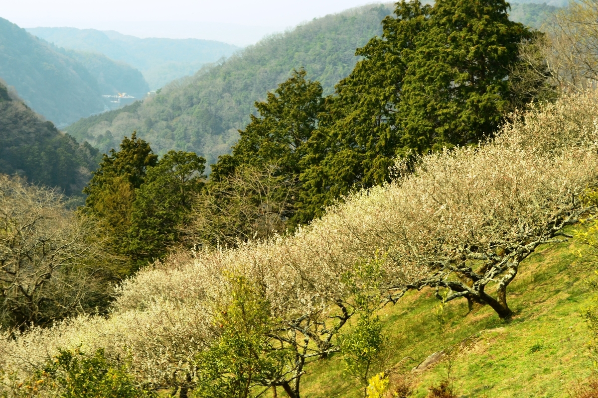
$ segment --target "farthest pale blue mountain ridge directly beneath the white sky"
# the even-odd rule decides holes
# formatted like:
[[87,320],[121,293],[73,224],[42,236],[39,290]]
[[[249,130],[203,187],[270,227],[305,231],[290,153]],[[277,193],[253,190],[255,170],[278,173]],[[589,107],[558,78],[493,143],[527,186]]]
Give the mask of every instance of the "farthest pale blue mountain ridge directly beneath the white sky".
[[231,44],[200,39],[140,39],[109,30],[74,27],[33,27],[27,29],[59,47],[102,53],[141,70],[150,88],[193,75],[206,63],[228,57],[239,50]]

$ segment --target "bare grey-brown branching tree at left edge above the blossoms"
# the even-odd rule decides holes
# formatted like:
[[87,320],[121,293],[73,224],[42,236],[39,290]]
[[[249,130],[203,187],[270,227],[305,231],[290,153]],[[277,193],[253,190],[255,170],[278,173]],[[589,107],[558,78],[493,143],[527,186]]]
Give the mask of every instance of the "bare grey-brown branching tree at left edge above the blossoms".
[[90,226],[54,190],[0,175],[0,326],[24,330],[105,305]]

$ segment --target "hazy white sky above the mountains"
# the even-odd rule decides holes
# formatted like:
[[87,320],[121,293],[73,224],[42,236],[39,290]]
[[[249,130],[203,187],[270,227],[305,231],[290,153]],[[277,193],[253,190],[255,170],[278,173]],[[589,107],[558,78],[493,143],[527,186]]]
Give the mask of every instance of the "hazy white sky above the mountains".
[[21,27],[70,26],[139,37],[251,44],[267,33],[372,0],[1,0],[0,17]]

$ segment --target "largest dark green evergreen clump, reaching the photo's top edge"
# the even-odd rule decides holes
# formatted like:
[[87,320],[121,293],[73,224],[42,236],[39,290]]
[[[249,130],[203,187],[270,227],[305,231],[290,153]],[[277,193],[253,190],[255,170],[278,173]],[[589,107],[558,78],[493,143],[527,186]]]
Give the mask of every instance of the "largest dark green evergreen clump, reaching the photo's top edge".
[[518,95],[509,70],[532,38],[504,0],[397,3],[356,55],[364,57],[326,98],[304,146],[301,221],[351,189],[389,179],[396,156],[475,144],[492,135]]

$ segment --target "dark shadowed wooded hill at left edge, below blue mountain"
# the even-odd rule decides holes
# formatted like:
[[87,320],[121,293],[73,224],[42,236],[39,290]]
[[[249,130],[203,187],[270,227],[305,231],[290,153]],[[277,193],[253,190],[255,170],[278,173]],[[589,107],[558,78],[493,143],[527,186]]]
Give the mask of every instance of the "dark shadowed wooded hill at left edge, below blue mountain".
[[97,149],[39,118],[0,82],[0,173],[79,195],[99,162]]

